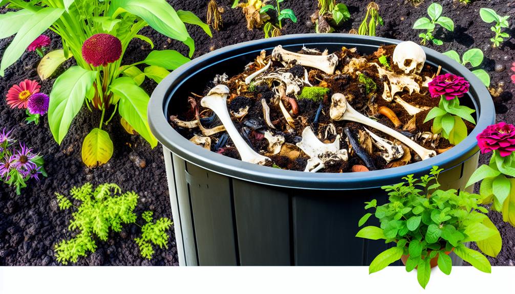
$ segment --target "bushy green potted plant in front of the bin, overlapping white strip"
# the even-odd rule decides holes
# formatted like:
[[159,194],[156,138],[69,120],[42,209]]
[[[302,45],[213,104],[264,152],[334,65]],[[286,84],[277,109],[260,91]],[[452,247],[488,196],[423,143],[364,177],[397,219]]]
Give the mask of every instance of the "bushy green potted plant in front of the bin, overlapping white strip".
[[488,259],[478,251],[465,246],[476,242],[480,250],[489,256],[501,251],[499,231],[485,215],[481,197],[466,191],[439,190],[438,176],[442,170],[434,167],[430,175],[404,177],[404,182],[382,187],[388,192],[389,202],[377,206],[374,199],[365,209],[358,225],[363,226],[370,216],[379,219],[381,227],[367,226],[356,236],[371,240],[384,239],[397,246],[380,253],[372,261],[369,272],[373,273],[408,255],[406,270],[417,268],[419,284],[425,288],[431,275],[431,259],[438,259],[438,267],[445,274],[451,273],[452,262],[448,252],[454,250],[463,260],[475,268],[490,272]]

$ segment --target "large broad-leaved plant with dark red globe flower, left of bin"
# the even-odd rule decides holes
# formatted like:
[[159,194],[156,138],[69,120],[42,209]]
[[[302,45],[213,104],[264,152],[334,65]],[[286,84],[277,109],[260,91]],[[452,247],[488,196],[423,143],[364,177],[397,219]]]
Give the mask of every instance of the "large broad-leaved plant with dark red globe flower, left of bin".
[[[50,29],[62,39],[63,49],[52,51],[38,67],[48,78],[64,61],[73,57],[76,66],[59,76],[50,93],[48,124],[54,139],[61,144],[83,104],[98,109],[101,119],[82,144],[83,161],[89,167],[106,163],[113,144],[102,127],[118,112],[150,145],[157,139],[147,122],[148,94],[140,87],[145,78],[160,82],[169,70],[190,61],[175,50],[151,51],[140,62],[122,66],[127,46],[133,39],[150,44],[140,30],[150,26],[183,42],[192,56],[195,45],[184,23],[201,26],[211,35],[208,25],[190,11],[175,11],[165,0],[4,0],[16,11],[0,15],[0,39],[16,34],[4,52],[0,76],[18,60],[27,46]],[[87,43],[88,42],[88,43]],[[88,53],[89,52],[89,53]],[[146,64],[144,71],[137,65]],[[110,112],[110,114],[109,114]],[[88,157],[84,157],[88,156]]]

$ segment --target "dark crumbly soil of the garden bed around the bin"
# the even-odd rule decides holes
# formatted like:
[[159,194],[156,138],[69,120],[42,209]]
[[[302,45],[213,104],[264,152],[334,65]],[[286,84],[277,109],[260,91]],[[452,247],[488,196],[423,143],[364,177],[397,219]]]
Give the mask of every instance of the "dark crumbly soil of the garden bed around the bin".
[[[207,11],[206,0],[169,0],[176,10],[191,10],[205,20]],[[188,30],[196,42],[195,56],[207,53],[227,45],[239,42],[261,39],[263,31],[255,29],[248,31],[241,9],[231,9],[232,0],[220,0],[218,4],[224,8],[222,14],[224,29],[214,31],[213,38],[208,38],[201,29],[188,25]],[[337,29],[337,32],[347,32],[358,28],[365,15],[367,1],[345,0],[351,12],[351,20]],[[489,39],[492,31],[490,24],[479,19],[479,9],[492,8],[500,15],[514,15],[515,3],[505,0],[478,0],[469,5],[457,0],[436,1],[443,6],[444,16],[451,17],[455,22],[455,31],[447,32],[438,29],[435,34],[445,43],[433,46],[440,52],[456,50],[460,54],[468,48],[480,48],[485,52],[483,68],[492,76],[492,88],[499,89],[494,97],[497,111],[497,121],[515,123],[515,107],[513,94],[515,85],[511,83],[511,63],[515,61],[515,40],[509,39],[500,48],[492,48]],[[377,36],[417,42],[420,31],[411,27],[419,17],[426,15],[426,9],[431,1],[424,1],[414,7],[404,0],[378,0],[380,14],[385,25],[377,28]],[[283,34],[314,32],[314,26],[309,16],[316,9],[315,0],[285,0],[283,8],[292,8],[297,17],[297,24],[285,21]],[[3,10],[0,10],[3,12]],[[511,22],[513,20],[510,19]],[[506,30],[515,35],[515,25]],[[183,44],[164,38],[149,28],[143,34],[150,36],[155,43],[155,49],[176,49],[183,54],[187,49]],[[0,52],[3,52],[12,38],[0,41]],[[52,48],[58,48],[60,41],[54,36]],[[130,44],[124,63],[140,61],[146,57],[150,47],[148,44],[134,40]],[[0,96],[7,93],[8,88],[23,79],[39,80],[36,66],[39,58],[36,54],[25,53],[22,59],[6,71],[6,76],[0,79]],[[69,66],[66,64],[65,66]],[[495,71],[497,68],[498,71]],[[42,83],[42,91],[49,93],[53,80]],[[151,82],[144,85],[149,92],[155,86]],[[116,123],[119,117],[113,119],[107,128],[114,141],[113,158],[103,167],[95,170],[85,168],[81,156],[81,142],[85,135],[96,127],[98,113],[90,113],[83,107],[73,125],[59,146],[52,139],[48,130],[46,117],[38,126],[26,125],[23,122],[24,113],[7,107],[5,100],[0,99],[0,128],[14,128],[13,135],[33,146],[44,155],[45,168],[49,177],[40,182],[31,182],[22,195],[15,193],[5,186],[0,187],[0,265],[57,265],[53,251],[54,245],[63,238],[71,237],[67,231],[70,214],[59,211],[54,193],[67,193],[73,186],[85,182],[95,184],[115,182],[124,190],[133,190],[140,194],[140,203],[136,212],[151,209],[155,216],[171,218],[166,174],[163,162],[162,148],[150,150],[149,145],[137,136],[129,136]],[[482,157],[482,162],[487,161]],[[141,162],[145,160],[145,167]],[[503,236],[503,250],[496,259],[490,259],[492,265],[515,265],[515,228],[502,222],[502,215],[492,212],[492,221]],[[140,219],[141,222],[141,219]],[[98,249],[87,258],[80,258],[78,265],[177,265],[177,250],[174,234],[171,233],[170,246],[167,250],[158,249],[151,261],[143,259],[138,252],[133,238],[140,234],[139,227],[125,226],[122,233],[112,234],[108,242],[98,242]]]

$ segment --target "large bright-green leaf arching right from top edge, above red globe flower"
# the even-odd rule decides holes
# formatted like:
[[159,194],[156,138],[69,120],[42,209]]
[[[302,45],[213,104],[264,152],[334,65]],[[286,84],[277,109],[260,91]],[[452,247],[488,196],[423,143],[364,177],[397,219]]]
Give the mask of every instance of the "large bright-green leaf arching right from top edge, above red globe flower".
[[190,47],[190,57],[193,56],[193,39],[175,9],[165,0],[111,0],[107,16],[115,19],[124,10],[140,16],[156,31],[183,42]]

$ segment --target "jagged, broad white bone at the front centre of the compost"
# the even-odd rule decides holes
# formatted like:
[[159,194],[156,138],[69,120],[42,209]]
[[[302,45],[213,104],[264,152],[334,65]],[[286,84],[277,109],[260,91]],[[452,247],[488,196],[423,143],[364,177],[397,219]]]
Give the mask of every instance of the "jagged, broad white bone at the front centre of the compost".
[[349,159],[347,150],[340,150],[340,135],[336,136],[334,142],[325,144],[322,143],[311,126],[306,126],[302,131],[302,141],[297,143],[297,147],[310,157],[307,160],[306,169],[304,172],[318,172],[325,167],[325,164],[347,161]]

